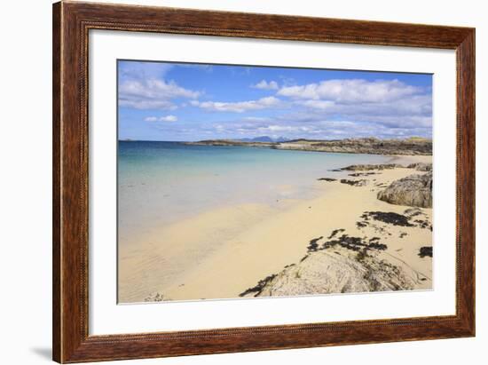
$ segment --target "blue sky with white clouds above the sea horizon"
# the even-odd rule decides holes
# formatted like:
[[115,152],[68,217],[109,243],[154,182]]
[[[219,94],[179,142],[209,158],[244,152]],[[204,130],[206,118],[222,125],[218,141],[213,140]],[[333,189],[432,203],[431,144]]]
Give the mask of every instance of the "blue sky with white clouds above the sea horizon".
[[431,137],[432,75],[118,61],[119,139]]

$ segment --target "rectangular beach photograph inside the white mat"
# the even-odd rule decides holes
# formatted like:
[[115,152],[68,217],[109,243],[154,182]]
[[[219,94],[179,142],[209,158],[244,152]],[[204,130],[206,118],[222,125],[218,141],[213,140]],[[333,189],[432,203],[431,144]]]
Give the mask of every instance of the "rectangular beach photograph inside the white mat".
[[119,304],[432,290],[432,75],[117,61]]

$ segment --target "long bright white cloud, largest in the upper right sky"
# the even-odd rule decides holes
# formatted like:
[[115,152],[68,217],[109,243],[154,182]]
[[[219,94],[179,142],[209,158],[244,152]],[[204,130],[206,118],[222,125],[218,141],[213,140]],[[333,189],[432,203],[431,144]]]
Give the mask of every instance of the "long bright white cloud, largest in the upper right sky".
[[341,103],[386,102],[421,92],[398,80],[335,79],[282,87],[278,95],[294,99],[326,99]]

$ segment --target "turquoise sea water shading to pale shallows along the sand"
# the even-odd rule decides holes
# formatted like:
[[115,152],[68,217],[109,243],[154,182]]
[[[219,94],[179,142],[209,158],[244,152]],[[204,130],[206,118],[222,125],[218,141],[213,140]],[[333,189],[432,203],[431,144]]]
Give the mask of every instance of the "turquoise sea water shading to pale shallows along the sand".
[[119,141],[119,242],[216,207],[312,198],[319,193],[317,179],[346,175],[330,170],[388,160],[383,155]]

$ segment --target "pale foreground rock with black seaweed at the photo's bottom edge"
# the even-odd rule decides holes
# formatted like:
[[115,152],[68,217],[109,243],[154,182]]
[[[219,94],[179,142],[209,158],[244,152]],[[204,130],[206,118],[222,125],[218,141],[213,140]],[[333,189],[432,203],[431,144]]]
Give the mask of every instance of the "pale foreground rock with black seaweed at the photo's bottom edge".
[[[413,290],[426,287],[431,279],[392,254],[387,243],[391,230],[420,226],[425,216],[420,208],[409,208],[405,214],[365,211],[360,217],[365,226],[361,232],[347,234],[346,229],[333,230],[310,240],[306,255],[270,274],[240,297],[279,297],[348,292]],[[366,233],[366,231],[369,234]],[[372,230],[374,235],[371,237]],[[400,238],[406,232],[400,231]],[[326,238],[327,237],[327,238]],[[418,251],[424,259],[432,258],[432,248]]]

